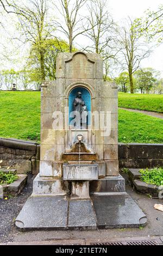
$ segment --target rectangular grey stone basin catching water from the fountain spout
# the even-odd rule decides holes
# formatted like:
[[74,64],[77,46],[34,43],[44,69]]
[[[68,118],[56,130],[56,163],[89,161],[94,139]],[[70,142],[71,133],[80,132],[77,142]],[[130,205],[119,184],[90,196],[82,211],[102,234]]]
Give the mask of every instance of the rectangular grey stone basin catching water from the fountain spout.
[[98,164],[64,164],[63,180],[98,180]]

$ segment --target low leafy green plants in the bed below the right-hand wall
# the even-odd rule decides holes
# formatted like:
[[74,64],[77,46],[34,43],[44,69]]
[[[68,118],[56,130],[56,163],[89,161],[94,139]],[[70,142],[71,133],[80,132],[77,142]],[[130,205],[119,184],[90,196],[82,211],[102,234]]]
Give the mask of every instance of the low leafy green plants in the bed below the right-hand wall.
[[153,184],[157,186],[163,186],[163,168],[153,168],[149,170],[148,168],[146,169],[141,169],[140,173],[142,174],[141,180],[145,181],[148,184]]

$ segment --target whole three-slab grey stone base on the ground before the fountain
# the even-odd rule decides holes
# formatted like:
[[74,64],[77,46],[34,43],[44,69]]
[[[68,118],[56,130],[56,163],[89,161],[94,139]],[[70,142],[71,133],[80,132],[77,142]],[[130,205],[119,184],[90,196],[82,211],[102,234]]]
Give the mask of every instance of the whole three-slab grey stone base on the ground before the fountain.
[[147,218],[127,193],[70,200],[64,196],[31,196],[16,218],[22,230],[135,228]]

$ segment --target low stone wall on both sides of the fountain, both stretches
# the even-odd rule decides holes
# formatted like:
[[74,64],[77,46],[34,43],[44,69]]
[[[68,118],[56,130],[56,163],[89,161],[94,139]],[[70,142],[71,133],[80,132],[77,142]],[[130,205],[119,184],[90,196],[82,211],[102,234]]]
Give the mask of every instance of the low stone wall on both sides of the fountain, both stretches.
[[[21,139],[0,138],[0,165],[17,169],[17,173],[39,172],[40,145]],[[163,144],[119,143],[120,168],[163,166]]]

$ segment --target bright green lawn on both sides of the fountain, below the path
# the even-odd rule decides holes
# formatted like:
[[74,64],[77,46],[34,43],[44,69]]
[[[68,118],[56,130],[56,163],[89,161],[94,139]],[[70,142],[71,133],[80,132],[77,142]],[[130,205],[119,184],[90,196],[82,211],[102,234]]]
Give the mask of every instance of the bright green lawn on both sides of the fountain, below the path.
[[[163,143],[162,127],[162,119],[119,110],[119,142]],[[40,140],[40,92],[0,91],[0,137]]]

